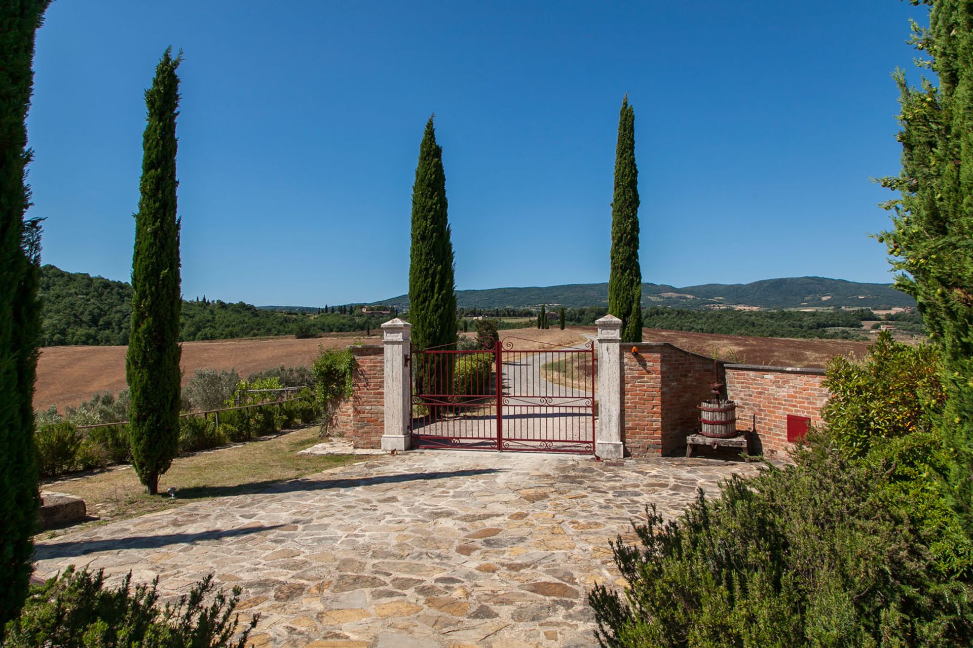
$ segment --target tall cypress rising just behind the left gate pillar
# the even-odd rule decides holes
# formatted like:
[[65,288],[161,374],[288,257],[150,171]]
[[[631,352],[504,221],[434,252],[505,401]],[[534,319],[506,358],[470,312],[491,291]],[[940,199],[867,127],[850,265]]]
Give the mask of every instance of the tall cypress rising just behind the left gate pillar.
[[[456,294],[447,207],[443,149],[436,144],[436,129],[430,117],[415,166],[409,255],[409,319],[413,324],[413,348],[419,351],[456,341]],[[417,369],[416,380],[420,381],[422,367]],[[435,373],[451,375],[447,367]],[[421,384],[416,387],[423,389]],[[424,389],[447,388],[428,385]]]

